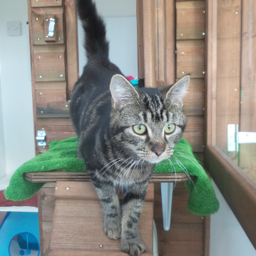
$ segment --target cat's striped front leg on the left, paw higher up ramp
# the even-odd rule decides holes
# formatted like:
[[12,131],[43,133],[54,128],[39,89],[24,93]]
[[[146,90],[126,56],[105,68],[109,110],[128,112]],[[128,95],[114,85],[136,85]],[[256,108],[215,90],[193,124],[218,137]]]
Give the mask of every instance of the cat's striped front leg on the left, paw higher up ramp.
[[121,236],[121,206],[116,190],[111,183],[93,182],[101,200],[104,232],[111,239]]

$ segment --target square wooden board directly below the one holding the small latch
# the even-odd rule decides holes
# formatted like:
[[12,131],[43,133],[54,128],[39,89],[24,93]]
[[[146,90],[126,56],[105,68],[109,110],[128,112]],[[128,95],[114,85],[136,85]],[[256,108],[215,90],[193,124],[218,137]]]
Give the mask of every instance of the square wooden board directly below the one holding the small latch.
[[66,81],[65,46],[34,46],[35,81]]

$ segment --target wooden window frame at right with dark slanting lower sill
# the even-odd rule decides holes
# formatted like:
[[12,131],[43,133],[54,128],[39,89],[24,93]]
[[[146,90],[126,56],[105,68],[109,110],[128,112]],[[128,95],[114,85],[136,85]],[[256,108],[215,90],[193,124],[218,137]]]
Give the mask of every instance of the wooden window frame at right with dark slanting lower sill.
[[205,167],[256,248],[256,186],[216,143],[217,3],[206,1]]

